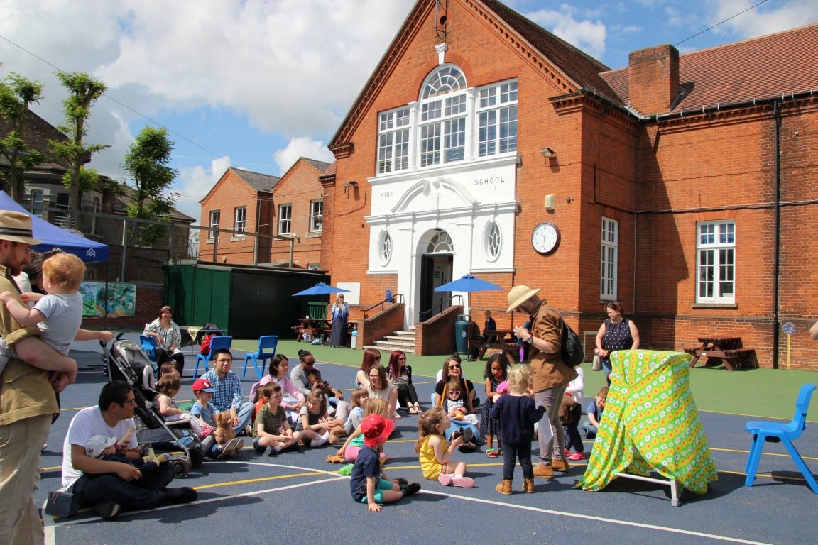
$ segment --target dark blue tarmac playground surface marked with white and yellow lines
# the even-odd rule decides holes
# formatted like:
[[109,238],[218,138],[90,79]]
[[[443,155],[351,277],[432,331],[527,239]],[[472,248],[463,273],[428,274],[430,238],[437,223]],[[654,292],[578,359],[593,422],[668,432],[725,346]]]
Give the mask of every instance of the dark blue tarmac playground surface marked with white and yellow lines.
[[[291,366],[297,364],[294,346],[285,349]],[[320,352],[329,355],[322,357]],[[359,361],[362,356],[361,351],[346,352],[344,360],[352,355]],[[313,353],[323,378],[347,393],[353,384],[355,366],[326,363],[332,359],[329,351]],[[178,400],[191,397],[193,354],[186,359]],[[79,362],[79,377],[62,395],[63,412],[43,452],[43,479],[35,498],[40,506],[45,503],[47,491],[61,486],[61,449],[70,419],[79,409],[97,403],[106,382],[98,344],[77,342],[71,355]],[[234,349],[233,357],[233,370],[240,376],[244,352]],[[442,363],[443,356],[439,359]],[[587,368],[589,377],[590,364]],[[753,372],[736,372],[735,376],[745,373]],[[482,384],[482,364],[466,367],[465,375]],[[598,376],[594,379],[599,382]],[[250,369],[242,380],[245,392],[256,380]],[[792,391],[784,392],[784,406],[776,414],[787,413],[792,418],[798,387],[802,382],[816,380],[818,375],[814,373],[793,375]],[[421,405],[429,409],[434,377],[416,371],[413,382]],[[479,386],[477,390],[484,398]],[[587,387],[583,405],[595,393],[596,386]],[[281,453],[271,458],[256,453],[249,438],[245,438],[245,449],[236,457],[206,461],[191,470],[187,478],[173,483],[198,490],[195,503],[124,512],[113,520],[101,520],[92,509],[70,519],[44,516],[46,543],[818,543],[818,494],[811,492],[783,446],[765,445],[755,485],[744,486],[744,463],[750,444],[744,422],[769,418],[771,414],[752,410],[743,414],[712,412],[707,410],[708,405],[718,406],[716,401],[700,400],[695,390],[694,396],[718,480],[704,496],[689,497],[685,493],[680,507],[671,506],[667,486],[636,480],[615,480],[601,492],[573,489],[585,471],[587,459],[572,462],[568,474],[555,472],[553,480],[537,479],[536,494],[520,491],[523,479],[518,466],[515,494],[502,496],[494,489],[501,480],[501,458],[488,458],[484,447],[477,453],[456,456],[468,464],[467,475],[476,481],[475,488],[444,487],[421,475],[414,452],[417,417],[403,412],[393,439],[386,444],[392,462],[385,469],[391,477],[420,482],[423,489],[378,513],[354,503],[348,478],[337,473],[341,466],[325,461],[335,448],[303,449],[302,453]],[[753,400],[736,406],[744,409],[748,403],[752,406]],[[811,417],[816,404],[818,400],[813,400]],[[815,418],[808,418],[807,429],[796,447],[815,474]],[[587,455],[591,448],[592,441],[586,440]],[[537,444],[533,445],[533,453],[537,456]]]

